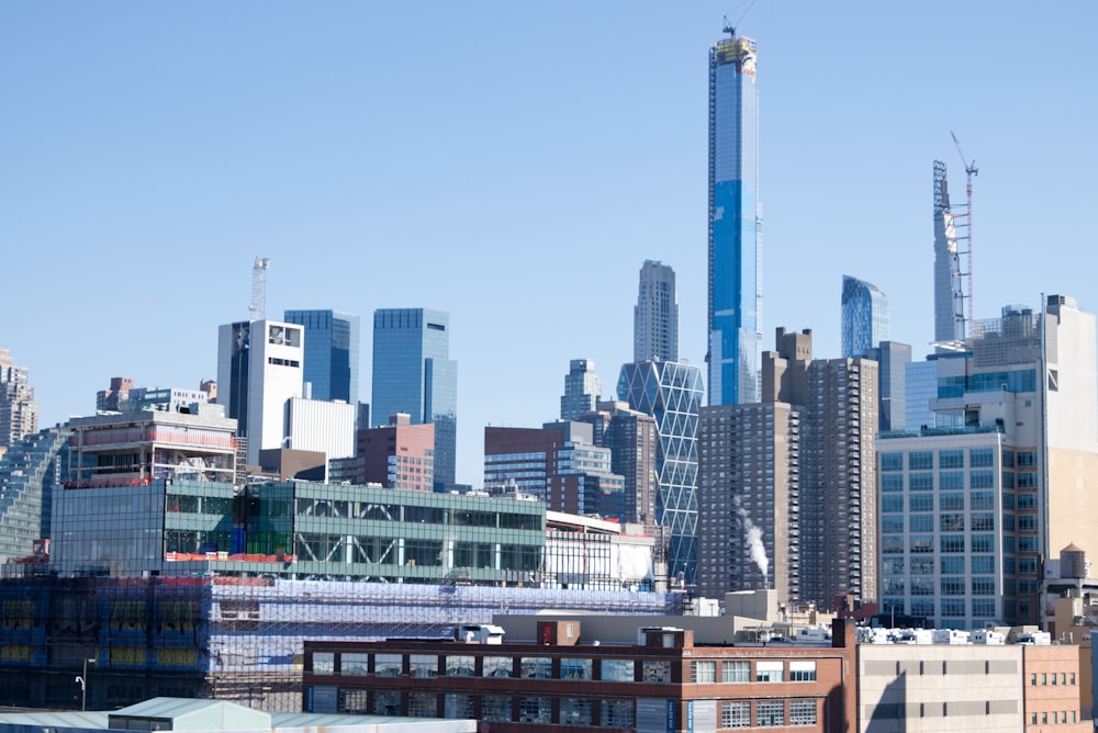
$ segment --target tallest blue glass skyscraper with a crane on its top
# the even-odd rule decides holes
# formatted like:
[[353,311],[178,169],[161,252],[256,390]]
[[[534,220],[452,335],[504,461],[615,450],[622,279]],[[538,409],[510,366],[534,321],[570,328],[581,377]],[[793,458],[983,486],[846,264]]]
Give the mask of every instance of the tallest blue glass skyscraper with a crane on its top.
[[755,42],[709,49],[709,405],[758,402],[762,346]]

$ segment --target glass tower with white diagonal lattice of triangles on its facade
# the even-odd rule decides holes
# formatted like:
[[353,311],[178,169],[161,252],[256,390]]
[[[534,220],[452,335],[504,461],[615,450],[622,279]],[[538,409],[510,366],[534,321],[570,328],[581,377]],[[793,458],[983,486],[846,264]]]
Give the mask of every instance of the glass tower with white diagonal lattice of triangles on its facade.
[[697,577],[697,414],[702,370],[674,361],[621,365],[617,394],[630,409],[656,418],[659,446],[657,522],[669,534],[672,577]]

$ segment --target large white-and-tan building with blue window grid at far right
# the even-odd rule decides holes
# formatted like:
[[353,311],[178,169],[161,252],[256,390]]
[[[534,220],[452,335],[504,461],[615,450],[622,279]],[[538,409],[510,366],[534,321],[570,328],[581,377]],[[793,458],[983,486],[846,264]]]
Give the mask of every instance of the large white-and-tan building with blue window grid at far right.
[[877,447],[884,610],[965,629],[1044,620],[1043,561],[1085,543],[1098,512],[1095,345],[1095,316],[1050,295],[927,362],[933,422]]

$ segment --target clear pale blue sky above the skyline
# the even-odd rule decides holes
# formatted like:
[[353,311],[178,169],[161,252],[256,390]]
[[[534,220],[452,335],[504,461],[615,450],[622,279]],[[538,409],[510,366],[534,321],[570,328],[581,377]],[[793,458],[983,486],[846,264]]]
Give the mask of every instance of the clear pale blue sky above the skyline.
[[[111,376],[197,387],[217,326],[450,313],[458,480],[483,427],[554,419],[570,359],[605,396],[645,259],[704,366],[708,48],[747,2],[0,3],[0,347],[49,425]],[[759,43],[763,345],[839,353],[842,275],[932,338],[932,160],[975,159],[974,303],[1098,312],[1098,3],[780,2]]]

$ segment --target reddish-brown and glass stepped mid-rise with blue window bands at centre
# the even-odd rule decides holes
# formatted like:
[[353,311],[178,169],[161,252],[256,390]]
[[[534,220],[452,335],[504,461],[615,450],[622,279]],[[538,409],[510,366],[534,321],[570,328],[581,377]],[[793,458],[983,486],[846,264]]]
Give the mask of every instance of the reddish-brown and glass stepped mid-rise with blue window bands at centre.
[[537,428],[484,428],[484,488],[536,497],[553,511],[627,521],[625,478],[610,450],[593,442],[587,422]]

